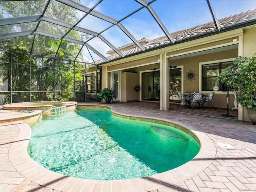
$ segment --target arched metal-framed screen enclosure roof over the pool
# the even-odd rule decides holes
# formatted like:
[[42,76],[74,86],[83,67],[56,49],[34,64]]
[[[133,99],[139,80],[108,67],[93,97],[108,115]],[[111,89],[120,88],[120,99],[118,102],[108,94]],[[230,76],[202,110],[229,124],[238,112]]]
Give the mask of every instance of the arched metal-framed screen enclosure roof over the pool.
[[[232,13],[223,7],[227,2]],[[222,32],[218,19],[256,7],[254,1],[242,2],[244,10],[238,11],[239,3],[225,0],[2,0],[0,50],[52,58],[70,54],[70,60],[100,65],[130,56],[118,49],[125,44],[133,43],[136,53],[152,50],[140,44],[142,38],[165,36],[169,46],[180,42],[172,32],[206,22],[214,23],[210,34]],[[190,16],[184,7],[190,7]],[[108,57],[110,50],[117,56]]]

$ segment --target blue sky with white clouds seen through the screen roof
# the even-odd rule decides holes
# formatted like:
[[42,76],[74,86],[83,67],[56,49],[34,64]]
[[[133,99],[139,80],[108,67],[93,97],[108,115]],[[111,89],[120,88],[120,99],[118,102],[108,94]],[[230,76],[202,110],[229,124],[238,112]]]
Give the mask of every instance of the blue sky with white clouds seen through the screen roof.
[[[98,2],[96,0],[80,1],[81,4],[89,8]],[[256,0],[210,0],[210,4],[218,19],[256,8]],[[156,0],[150,6],[170,33],[212,21],[206,0]],[[141,5],[134,0],[103,0],[94,10],[120,20],[140,7]],[[136,40],[144,37],[153,40],[165,35],[146,8],[122,20],[121,24]],[[101,32],[111,24],[90,16],[85,18],[79,26]],[[115,47],[132,42],[117,26],[109,28],[102,33],[102,36]],[[100,39],[96,38],[88,44],[94,46],[102,55],[109,56],[106,52],[111,48]],[[85,58],[91,60],[86,49],[83,49],[83,53]],[[94,53],[92,53],[92,57],[94,60],[100,59]]]

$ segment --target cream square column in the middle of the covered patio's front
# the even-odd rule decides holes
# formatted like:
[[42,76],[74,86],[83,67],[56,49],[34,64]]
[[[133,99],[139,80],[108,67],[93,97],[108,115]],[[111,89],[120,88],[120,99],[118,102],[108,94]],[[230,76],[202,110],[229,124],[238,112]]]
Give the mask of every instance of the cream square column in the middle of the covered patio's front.
[[160,54],[160,110],[170,109],[170,69],[166,59],[166,53]]

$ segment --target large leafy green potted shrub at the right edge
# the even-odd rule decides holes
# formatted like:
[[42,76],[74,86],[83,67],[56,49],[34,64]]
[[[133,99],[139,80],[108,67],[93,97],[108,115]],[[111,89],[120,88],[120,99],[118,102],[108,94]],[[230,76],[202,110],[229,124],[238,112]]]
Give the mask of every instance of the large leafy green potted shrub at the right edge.
[[256,52],[250,57],[236,58],[233,65],[219,74],[218,80],[232,86],[236,102],[246,108],[252,124],[256,124]]

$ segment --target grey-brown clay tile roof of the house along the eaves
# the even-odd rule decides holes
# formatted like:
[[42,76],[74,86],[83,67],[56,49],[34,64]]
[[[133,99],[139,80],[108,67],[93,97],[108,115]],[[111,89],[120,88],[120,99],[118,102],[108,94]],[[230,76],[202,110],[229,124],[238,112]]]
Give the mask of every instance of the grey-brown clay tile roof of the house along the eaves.
[[[229,28],[231,26],[236,26],[236,25],[239,26],[239,24],[242,24],[242,23],[248,22],[248,21],[252,21],[252,20],[256,20],[256,9],[219,19],[218,23],[219,23],[220,29],[222,31],[225,28]],[[205,23],[205,24],[201,24],[198,26],[194,26],[194,27],[191,27],[191,28],[188,28],[185,30],[173,32],[173,33],[171,33],[171,36],[174,39],[174,42],[177,42],[177,41],[185,40],[188,38],[200,36],[202,34],[208,34],[210,32],[216,32],[216,27],[215,27],[213,21]],[[133,44],[133,43],[131,43],[131,44]],[[145,50],[148,50],[148,49],[156,48],[158,46],[162,46],[165,44],[171,44],[171,42],[167,38],[167,36],[162,36],[162,37],[156,38],[142,46],[145,48]],[[129,45],[129,44],[127,44],[127,45]],[[124,45],[124,46],[127,46],[127,45]],[[122,48],[124,46],[121,46],[119,48]],[[112,50],[110,50],[108,52],[111,52],[111,51]],[[121,52],[122,52],[122,54],[124,54],[124,56],[127,56],[130,54],[134,54],[134,53],[142,52],[142,51],[140,50],[140,48],[134,47],[134,48],[131,48],[131,49],[128,49],[125,51],[121,51]],[[111,56],[108,56],[107,58],[108,58],[108,60],[111,61],[111,60],[115,60],[117,58],[121,58],[121,56],[119,56],[118,54],[113,54]],[[101,59],[101,60],[96,61],[95,63],[101,64],[101,63],[105,63],[105,62],[106,62],[105,60]]]

